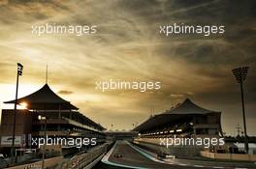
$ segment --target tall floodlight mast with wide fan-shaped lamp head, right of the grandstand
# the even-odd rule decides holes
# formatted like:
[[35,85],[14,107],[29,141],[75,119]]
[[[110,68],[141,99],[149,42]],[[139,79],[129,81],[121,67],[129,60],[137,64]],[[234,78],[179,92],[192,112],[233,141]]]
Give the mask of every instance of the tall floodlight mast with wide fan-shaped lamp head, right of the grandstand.
[[244,112],[244,99],[243,99],[243,81],[245,81],[246,76],[248,74],[249,67],[241,67],[233,71],[233,74],[236,77],[238,83],[240,83],[240,97],[241,97],[241,108],[242,108],[242,118],[243,118],[243,128],[244,128],[244,148],[246,154],[249,153],[249,146],[248,146],[248,136],[246,131],[246,121],[245,121],[245,112]]

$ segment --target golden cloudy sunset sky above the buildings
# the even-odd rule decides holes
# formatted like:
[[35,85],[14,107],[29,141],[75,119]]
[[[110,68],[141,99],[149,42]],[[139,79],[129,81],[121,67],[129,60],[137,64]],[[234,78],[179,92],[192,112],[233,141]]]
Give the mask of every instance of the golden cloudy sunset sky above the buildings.
[[[242,125],[240,88],[231,70],[249,66],[244,84],[248,133],[256,134],[256,3],[239,0],[1,0],[0,101],[15,97],[16,62],[24,65],[19,97],[48,83],[104,127],[131,129],[185,98],[222,111],[223,130]],[[224,25],[220,36],[159,35],[159,25]],[[45,23],[97,25],[76,37],[31,34]],[[157,80],[156,92],[95,90],[108,79]]]

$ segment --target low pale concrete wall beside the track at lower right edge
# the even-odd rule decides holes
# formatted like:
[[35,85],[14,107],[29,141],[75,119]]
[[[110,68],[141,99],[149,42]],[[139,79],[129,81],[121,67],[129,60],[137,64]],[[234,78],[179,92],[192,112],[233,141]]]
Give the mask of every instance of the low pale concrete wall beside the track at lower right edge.
[[229,159],[229,160],[242,160],[242,161],[256,161],[256,155],[240,155],[240,154],[215,154],[202,151],[202,156],[212,159]]

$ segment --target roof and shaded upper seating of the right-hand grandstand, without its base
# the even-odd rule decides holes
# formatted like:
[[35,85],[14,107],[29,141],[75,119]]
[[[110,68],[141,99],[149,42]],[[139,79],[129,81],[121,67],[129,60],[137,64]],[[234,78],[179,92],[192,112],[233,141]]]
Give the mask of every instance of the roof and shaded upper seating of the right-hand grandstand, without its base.
[[139,131],[145,137],[168,134],[222,135],[220,116],[221,112],[202,108],[190,99],[185,99],[176,107],[150,117],[133,130]]

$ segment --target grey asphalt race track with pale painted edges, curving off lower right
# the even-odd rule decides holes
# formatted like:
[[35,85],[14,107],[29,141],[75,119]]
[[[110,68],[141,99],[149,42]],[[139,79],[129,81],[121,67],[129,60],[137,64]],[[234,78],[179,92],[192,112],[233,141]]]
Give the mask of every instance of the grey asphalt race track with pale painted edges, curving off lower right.
[[[114,155],[122,155],[122,157],[115,157]],[[190,160],[175,160],[175,161],[163,161],[154,158],[151,155],[146,154],[143,150],[138,147],[131,145],[126,141],[117,141],[113,146],[112,150],[103,157],[101,165],[102,169],[105,168],[134,168],[134,169],[246,169],[256,168],[245,167],[242,164],[240,166],[233,166],[232,163],[221,166],[220,163],[214,161],[196,161],[191,162]],[[108,167],[109,166],[109,167]],[[255,167],[254,167],[255,166]]]

